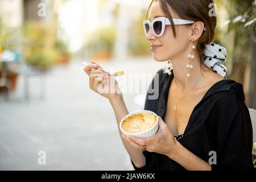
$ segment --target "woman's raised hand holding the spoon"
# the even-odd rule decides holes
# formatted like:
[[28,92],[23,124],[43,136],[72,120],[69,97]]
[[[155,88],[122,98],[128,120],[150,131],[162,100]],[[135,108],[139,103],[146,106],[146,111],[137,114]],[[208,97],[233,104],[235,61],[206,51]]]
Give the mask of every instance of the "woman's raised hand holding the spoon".
[[104,71],[96,68],[102,68],[95,61],[84,68],[85,73],[89,76],[90,89],[109,100],[114,99],[121,94],[118,83],[114,76],[107,75]]

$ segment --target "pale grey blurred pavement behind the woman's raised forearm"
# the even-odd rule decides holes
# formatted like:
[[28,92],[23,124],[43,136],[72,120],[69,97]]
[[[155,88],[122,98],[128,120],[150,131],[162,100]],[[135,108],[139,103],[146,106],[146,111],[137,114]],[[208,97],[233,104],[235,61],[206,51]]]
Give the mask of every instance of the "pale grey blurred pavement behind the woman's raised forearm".
[[[164,63],[149,58],[102,62],[126,73],[155,73]],[[125,68],[124,68],[125,66]],[[108,100],[89,89],[81,61],[49,72],[46,97],[31,78],[30,101],[23,100],[23,78],[6,102],[0,96],[0,170],[130,170]],[[124,94],[129,111],[143,109],[144,94]],[[46,165],[38,152],[46,152]]]

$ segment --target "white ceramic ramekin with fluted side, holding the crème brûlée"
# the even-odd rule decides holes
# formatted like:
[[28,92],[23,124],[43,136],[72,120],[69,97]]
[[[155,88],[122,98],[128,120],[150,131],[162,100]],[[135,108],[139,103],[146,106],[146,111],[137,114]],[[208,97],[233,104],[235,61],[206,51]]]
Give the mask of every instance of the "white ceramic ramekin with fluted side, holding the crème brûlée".
[[[141,113],[152,113],[155,115],[156,117],[156,123],[154,126],[151,127],[151,129],[147,130],[147,131],[143,131],[142,133],[127,133],[126,131],[123,131],[122,129],[122,123],[123,121],[125,121],[126,118],[128,118],[130,115],[133,114],[141,114]],[[138,110],[138,111],[134,111],[133,113],[127,114],[122,121],[120,122],[119,128],[122,132],[123,135],[131,135],[134,137],[138,137],[138,138],[147,138],[147,137],[152,137],[153,135],[156,134],[156,132],[158,131],[159,128],[159,122],[158,122],[158,115],[156,115],[154,112],[150,111],[150,110]]]

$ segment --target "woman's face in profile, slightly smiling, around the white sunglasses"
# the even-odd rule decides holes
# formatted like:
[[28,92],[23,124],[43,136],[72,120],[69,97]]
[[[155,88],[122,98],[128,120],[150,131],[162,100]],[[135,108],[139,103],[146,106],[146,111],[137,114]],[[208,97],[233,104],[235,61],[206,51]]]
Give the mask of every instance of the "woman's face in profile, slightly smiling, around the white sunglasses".
[[[170,9],[172,18],[180,17]],[[159,2],[154,1],[149,12],[150,21],[156,16],[164,16],[162,9],[160,8]],[[147,33],[146,39],[150,41],[151,51],[156,61],[167,61],[173,60],[176,57],[180,57],[189,48],[191,29],[185,25],[175,25],[176,38],[174,37],[172,28],[170,25],[166,26],[164,34],[160,37],[154,35],[152,28]],[[189,36],[190,35],[190,36]],[[188,52],[189,53],[189,52]]]

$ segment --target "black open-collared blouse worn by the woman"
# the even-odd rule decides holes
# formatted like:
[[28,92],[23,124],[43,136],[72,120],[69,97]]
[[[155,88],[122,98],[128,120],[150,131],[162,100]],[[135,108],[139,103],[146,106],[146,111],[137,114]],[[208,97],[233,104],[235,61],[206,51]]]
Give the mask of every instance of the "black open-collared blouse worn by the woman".
[[[164,118],[174,74],[171,71],[169,76],[161,69],[158,77],[155,76],[151,82],[144,109]],[[159,88],[154,88],[156,78]],[[156,89],[159,90],[159,97],[149,99],[155,94],[151,91],[157,92]],[[193,109],[184,134],[182,137],[177,136],[178,141],[206,162],[212,156],[209,152],[215,151],[217,164],[211,165],[212,170],[253,169],[253,129],[244,101],[241,84],[229,79],[216,82]],[[185,170],[166,155],[148,151],[143,151],[143,155],[146,157],[146,166],[137,168],[131,161],[136,170]]]

